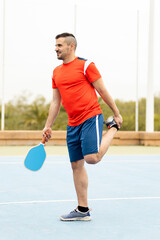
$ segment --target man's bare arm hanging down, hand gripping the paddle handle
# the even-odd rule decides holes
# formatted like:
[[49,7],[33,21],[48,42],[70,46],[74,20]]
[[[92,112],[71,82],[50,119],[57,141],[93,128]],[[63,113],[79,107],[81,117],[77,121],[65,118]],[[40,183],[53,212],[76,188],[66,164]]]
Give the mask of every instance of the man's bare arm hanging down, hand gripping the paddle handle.
[[48,118],[47,118],[45,127],[43,129],[43,136],[46,137],[46,141],[48,141],[48,139],[51,138],[51,135],[52,135],[51,128],[59,113],[60,106],[61,106],[61,95],[59,93],[58,88],[56,88],[56,89],[53,89],[53,98],[50,104]]

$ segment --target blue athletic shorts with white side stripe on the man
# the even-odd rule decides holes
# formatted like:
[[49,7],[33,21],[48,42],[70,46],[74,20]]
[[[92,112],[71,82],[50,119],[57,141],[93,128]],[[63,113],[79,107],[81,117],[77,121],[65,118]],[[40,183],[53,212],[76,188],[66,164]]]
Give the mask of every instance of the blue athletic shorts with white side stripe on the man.
[[67,126],[67,146],[71,162],[85,155],[98,153],[103,132],[103,114],[87,119],[82,124]]

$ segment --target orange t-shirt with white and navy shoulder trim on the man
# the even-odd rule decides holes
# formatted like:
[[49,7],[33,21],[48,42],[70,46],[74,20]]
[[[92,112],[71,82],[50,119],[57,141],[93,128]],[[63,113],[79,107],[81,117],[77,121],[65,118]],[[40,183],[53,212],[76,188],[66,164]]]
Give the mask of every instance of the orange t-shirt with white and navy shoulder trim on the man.
[[52,88],[58,88],[68,114],[68,125],[78,126],[102,113],[91,83],[101,78],[93,62],[76,57],[53,71]]

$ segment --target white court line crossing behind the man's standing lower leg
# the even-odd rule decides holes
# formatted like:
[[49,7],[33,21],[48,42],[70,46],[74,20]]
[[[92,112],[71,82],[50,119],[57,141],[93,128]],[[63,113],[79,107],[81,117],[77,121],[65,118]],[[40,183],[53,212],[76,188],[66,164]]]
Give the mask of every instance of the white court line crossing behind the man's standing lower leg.
[[[117,201],[117,200],[154,200],[160,197],[125,197],[125,198],[91,198],[88,201]],[[0,202],[0,205],[18,205],[18,204],[35,204],[35,203],[61,203],[61,202],[76,202],[76,199],[65,200],[35,200],[35,201],[20,201],[20,202]]]

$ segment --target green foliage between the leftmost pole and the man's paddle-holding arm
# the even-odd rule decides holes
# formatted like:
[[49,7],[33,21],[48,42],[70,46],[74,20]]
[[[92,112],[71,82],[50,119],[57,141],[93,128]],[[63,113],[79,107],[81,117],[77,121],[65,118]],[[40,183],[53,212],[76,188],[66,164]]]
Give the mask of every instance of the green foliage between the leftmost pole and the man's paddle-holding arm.
[[48,114],[49,104],[45,98],[37,97],[32,104],[27,104],[25,97],[6,104],[6,130],[38,130],[42,129]]

